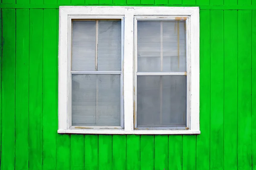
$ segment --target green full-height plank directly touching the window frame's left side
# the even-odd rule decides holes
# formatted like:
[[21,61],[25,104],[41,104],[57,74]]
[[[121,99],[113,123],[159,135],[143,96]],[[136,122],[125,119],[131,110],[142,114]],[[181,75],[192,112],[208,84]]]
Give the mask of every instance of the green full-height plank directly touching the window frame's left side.
[[43,40],[43,168],[56,168],[56,63],[57,53],[57,10],[44,9]]

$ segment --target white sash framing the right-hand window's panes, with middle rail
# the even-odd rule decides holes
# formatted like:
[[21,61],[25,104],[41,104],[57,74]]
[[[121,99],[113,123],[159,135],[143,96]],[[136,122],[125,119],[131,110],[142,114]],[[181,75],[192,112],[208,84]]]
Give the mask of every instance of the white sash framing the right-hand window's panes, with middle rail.
[[[190,127],[190,106],[191,106],[191,82],[190,82],[190,74],[191,74],[191,68],[190,68],[190,61],[189,61],[189,28],[190,28],[190,17],[182,17],[180,20],[186,21],[186,71],[183,72],[177,72],[177,71],[166,71],[166,72],[139,72],[138,71],[138,43],[137,43],[137,21],[138,20],[144,20],[144,21],[151,21],[151,20],[177,20],[175,19],[177,17],[163,17],[163,16],[139,16],[134,17],[134,129],[135,130],[143,130],[143,129],[151,129],[151,130],[157,130],[157,129],[188,129]],[[161,35],[163,33],[163,25],[161,23]],[[161,50],[160,50],[160,60],[161,60],[161,70],[163,70],[163,38],[161,39]],[[138,126],[137,125],[137,76],[186,76],[186,127],[179,127],[179,126],[156,126],[156,127],[147,127],[147,126]],[[162,81],[161,81],[162,82]],[[161,83],[160,82],[160,83]],[[161,83],[162,84],[162,83]],[[162,94],[162,93],[161,93]]]

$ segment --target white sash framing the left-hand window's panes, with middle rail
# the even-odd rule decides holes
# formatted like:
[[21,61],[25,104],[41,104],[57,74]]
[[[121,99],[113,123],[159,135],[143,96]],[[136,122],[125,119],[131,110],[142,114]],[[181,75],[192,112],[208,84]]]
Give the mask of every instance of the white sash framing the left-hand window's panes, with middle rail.
[[[123,67],[122,67],[122,62],[123,62],[123,58],[124,58],[124,18],[123,17],[113,17],[111,16],[110,18],[108,18],[108,20],[120,20],[121,19],[121,71],[97,71],[98,70],[98,29],[99,29],[99,20],[101,17],[97,17],[95,19],[91,18],[90,20],[95,20],[96,21],[96,51],[95,51],[95,70],[96,71],[72,71],[71,70],[71,60],[72,60],[72,34],[71,32],[69,33],[69,52],[68,52],[68,62],[69,62],[69,68],[68,68],[68,128],[73,128],[73,129],[102,129],[102,128],[106,128],[106,129],[123,129],[124,128],[124,93],[123,93]],[[76,19],[79,19],[76,17]],[[76,20],[75,19],[75,20]],[[103,19],[103,18],[102,18]],[[104,17],[104,19],[106,19]],[[69,23],[70,24],[70,30],[72,30],[72,20],[73,17],[70,16],[69,17]],[[72,74],[119,74],[120,75],[120,126],[73,126],[72,125]],[[97,113],[96,113],[97,114]]]

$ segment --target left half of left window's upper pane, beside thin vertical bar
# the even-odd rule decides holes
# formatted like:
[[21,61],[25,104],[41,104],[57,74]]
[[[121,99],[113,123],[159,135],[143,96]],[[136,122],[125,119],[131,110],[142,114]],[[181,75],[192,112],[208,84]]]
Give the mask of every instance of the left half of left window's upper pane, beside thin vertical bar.
[[96,21],[73,21],[72,71],[95,71]]

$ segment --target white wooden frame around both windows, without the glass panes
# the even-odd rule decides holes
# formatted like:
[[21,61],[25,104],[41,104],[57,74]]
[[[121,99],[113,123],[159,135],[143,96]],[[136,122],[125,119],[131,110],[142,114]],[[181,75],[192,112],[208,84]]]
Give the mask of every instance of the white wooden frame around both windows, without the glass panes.
[[[71,126],[71,20],[121,19],[121,127]],[[187,127],[136,128],[137,20],[186,20]],[[172,73],[166,73],[168,75]],[[161,75],[163,75],[161,73]],[[123,79],[122,79],[123,78]],[[121,111],[121,112],[122,112]],[[122,126],[122,120],[123,126]],[[58,51],[58,133],[83,134],[200,134],[199,128],[199,7],[60,6]]]

